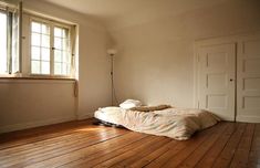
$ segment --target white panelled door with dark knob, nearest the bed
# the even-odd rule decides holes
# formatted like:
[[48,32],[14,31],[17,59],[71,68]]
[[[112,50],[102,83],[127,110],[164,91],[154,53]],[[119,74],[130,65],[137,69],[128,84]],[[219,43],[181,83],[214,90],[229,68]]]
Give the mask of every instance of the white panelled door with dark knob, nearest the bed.
[[198,105],[235,120],[236,44],[198,48]]

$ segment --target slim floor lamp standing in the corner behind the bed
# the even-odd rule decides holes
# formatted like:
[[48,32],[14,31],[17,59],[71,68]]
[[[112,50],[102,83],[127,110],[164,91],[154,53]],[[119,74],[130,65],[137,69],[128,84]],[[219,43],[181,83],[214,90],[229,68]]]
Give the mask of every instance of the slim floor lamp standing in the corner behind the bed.
[[116,54],[115,49],[108,49],[107,54],[111,56],[111,105],[114,105],[115,88],[114,88],[114,56]]

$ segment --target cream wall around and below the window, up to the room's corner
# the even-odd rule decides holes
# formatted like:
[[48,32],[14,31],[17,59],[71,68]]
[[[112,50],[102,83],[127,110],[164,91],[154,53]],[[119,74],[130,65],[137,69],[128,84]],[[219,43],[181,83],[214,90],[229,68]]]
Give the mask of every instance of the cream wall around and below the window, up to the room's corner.
[[[79,97],[74,82],[0,80],[0,133],[85,118],[110,104],[107,33],[94,19],[42,1],[24,9],[79,24]],[[23,34],[24,35],[24,34]],[[23,39],[27,43],[28,36]]]

